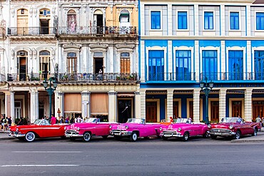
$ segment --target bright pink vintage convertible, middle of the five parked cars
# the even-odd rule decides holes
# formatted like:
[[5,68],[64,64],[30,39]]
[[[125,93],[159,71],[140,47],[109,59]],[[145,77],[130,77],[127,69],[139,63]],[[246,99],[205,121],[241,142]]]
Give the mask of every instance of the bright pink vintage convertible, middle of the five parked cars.
[[141,137],[158,136],[160,128],[164,126],[161,123],[146,123],[142,118],[128,118],[126,123],[111,126],[111,135],[116,140],[129,138],[131,141],[136,141]]

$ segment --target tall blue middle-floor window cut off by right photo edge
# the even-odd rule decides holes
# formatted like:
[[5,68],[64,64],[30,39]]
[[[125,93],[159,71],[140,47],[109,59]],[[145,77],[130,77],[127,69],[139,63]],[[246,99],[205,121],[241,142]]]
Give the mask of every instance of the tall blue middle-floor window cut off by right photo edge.
[[264,80],[264,51],[254,51],[255,80]]

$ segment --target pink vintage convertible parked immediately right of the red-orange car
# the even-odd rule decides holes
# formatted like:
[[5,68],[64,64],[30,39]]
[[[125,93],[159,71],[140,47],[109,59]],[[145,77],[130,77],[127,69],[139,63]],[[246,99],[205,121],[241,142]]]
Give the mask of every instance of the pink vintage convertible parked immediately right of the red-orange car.
[[67,126],[65,136],[70,140],[81,138],[85,142],[90,141],[92,136],[107,138],[110,125],[113,126],[114,123],[101,123],[99,118],[89,118],[86,123],[73,123]]

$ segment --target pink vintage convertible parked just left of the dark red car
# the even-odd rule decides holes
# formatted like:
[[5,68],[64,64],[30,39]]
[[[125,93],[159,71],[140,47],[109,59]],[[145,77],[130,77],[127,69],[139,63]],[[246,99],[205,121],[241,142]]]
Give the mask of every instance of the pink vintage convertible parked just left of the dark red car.
[[193,136],[207,136],[208,125],[205,123],[192,123],[191,119],[178,118],[176,123],[168,125],[166,128],[161,128],[161,138],[168,140],[168,138],[181,138],[187,141],[189,137]]

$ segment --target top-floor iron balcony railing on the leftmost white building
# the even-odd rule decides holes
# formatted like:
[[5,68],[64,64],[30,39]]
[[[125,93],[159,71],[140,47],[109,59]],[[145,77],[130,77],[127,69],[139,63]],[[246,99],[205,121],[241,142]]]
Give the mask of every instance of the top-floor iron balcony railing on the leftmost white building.
[[9,36],[38,36],[55,33],[54,27],[10,27],[7,29]]

